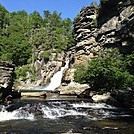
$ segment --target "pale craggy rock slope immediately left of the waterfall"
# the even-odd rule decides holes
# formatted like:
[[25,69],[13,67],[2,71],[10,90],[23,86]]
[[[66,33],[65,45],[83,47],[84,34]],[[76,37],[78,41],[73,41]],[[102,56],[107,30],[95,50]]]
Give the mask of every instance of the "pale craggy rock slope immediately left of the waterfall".
[[23,81],[20,79],[20,85],[17,86],[17,89],[28,89],[36,86],[46,85],[50,82],[51,77],[60,70],[62,66],[65,64],[65,53],[56,53],[51,52],[48,59],[44,59],[41,55],[43,50],[37,49],[36,57],[37,59],[33,64],[31,64],[31,68],[35,68],[35,80],[32,81],[32,74],[27,72],[26,80]]

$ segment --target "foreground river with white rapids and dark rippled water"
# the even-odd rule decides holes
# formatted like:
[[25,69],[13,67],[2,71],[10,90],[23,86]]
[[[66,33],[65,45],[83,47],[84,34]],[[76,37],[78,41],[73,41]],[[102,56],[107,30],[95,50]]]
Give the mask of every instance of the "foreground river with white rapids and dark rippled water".
[[134,133],[133,117],[131,111],[105,103],[18,100],[0,105],[0,132]]

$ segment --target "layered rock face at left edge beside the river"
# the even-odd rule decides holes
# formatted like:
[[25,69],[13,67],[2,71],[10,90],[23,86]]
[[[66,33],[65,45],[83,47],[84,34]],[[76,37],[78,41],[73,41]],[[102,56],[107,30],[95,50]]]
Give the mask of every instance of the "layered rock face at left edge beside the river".
[[6,97],[12,91],[14,65],[0,61],[0,97]]

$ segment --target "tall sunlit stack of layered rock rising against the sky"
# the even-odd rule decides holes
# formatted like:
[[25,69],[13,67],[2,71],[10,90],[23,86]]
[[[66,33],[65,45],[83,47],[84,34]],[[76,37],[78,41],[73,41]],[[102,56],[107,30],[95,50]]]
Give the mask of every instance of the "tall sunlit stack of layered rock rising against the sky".
[[100,49],[96,42],[98,9],[95,6],[83,8],[74,19],[75,63],[80,64],[94,57]]

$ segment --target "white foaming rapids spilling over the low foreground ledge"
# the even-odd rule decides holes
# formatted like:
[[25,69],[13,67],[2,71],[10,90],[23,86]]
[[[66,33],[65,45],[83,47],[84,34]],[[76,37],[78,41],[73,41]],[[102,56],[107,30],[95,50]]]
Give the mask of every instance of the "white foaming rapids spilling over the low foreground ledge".
[[[20,103],[20,102],[19,102]],[[63,117],[86,117],[89,120],[103,120],[113,117],[131,116],[120,112],[118,108],[105,103],[90,103],[85,101],[45,101],[21,102],[10,107],[0,105],[0,122],[7,120],[38,120],[57,119]],[[17,107],[17,105],[20,105]]]

